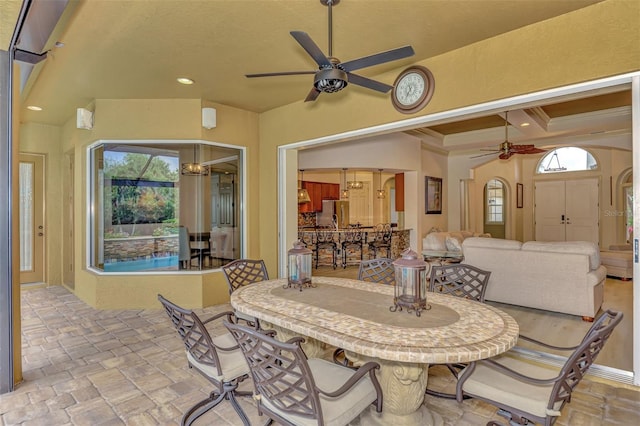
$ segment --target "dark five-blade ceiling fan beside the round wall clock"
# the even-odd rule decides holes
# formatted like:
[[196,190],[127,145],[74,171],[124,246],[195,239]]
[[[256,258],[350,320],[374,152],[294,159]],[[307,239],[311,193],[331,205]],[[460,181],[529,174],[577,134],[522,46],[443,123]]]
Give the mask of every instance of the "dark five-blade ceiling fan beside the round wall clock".
[[387,93],[389,90],[393,89],[393,86],[369,79],[367,77],[363,77],[361,75],[353,74],[352,71],[413,56],[413,48],[411,46],[404,46],[397,49],[388,50],[386,52],[380,52],[370,56],[353,59],[351,61],[340,62],[338,58],[335,58],[333,56],[332,46],[332,7],[340,3],[340,0],[320,0],[320,3],[327,6],[329,9],[328,55],[325,55],[322,50],[320,50],[318,45],[314,43],[314,41],[307,33],[303,31],[290,32],[293,38],[296,39],[298,43],[300,43],[300,45],[304,48],[304,50],[306,50],[309,56],[311,56],[313,60],[316,61],[319,69],[317,71],[285,71],[261,74],[247,74],[246,77],[254,78],[282,75],[314,74],[313,87],[305,98],[305,102],[315,101],[320,93],[338,92],[347,87],[348,83],[353,83],[358,86],[366,87],[368,89],[376,90],[382,93]]

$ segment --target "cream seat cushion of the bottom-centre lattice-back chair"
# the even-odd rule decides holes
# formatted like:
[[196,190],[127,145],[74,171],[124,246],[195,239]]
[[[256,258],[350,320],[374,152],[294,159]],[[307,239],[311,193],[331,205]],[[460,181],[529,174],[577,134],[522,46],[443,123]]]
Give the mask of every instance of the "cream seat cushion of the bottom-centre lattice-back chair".
[[[354,370],[318,358],[308,360],[309,368],[316,382],[316,386],[326,392],[333,392],[340,388],[355,373]],[[338,398],[328,398],[320,395],[320,405],[324,424],[326,426],[344,426],[358,417],[368,405],[377,398],[376,390],[368,376],[363,377],[349,391]],[[284,419],[299,426],[317,426],[318,421],[290,413],[276,408],[266,398],[261,403],[270,411],[277,413]]]

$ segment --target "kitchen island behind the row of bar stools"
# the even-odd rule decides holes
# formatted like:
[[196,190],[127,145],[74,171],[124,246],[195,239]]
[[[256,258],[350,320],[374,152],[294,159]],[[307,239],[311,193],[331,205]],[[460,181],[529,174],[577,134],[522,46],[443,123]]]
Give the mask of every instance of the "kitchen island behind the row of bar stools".
[[[316,231],[320,228],[314,227],[299,227],[298,228],[298,239],[305,243],[309,248],[313,248],[314,243],[316,242]],[[358,228],[362,232],[362,258],[369,259],[373,257],[373,253],[369,252],[369,242],[372,242],[375,239],[375,228],[372,226],[363,226]],[[331,233],[331,240],[336,243],[336,247],[338,253],[336,256],[338,258],[338,265],[341,265],[340,259],[342,259],[342,242],[345,239],[345,234],[348,232],[352,232],[352,228],[339,228],[339,229],[322,229],[323,232]],[[409,247],[411,229],[399,229],[399,228],[391,228],[391,258],[397,259],[400,257],[400,253],[403,250]],[[315,256],[315,255],[314,255]],[[321,249],[319,253],[319,258],[321,264],[327,265],[332,262],[333,253],[329,249]],[[376,257],[386,257],[386,252],[378,252]],[[360,254],[355,253],[353,248],[348,249],[347,258],[352,260],[359,260]]]

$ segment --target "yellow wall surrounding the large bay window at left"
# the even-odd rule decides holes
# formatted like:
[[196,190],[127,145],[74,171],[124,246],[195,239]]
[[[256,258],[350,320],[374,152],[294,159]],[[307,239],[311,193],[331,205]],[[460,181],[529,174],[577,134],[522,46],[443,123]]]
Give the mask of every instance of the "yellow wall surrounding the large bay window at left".
[[[213,106],[217,110],[217,127],[206,130],[201,127],[201,107]],[[61,264],[72,261],[75,265],[75,293],[92,306],[113,308],[156,308],[156,294],[186,306],[206,306],[229,300],[228,290],[220,272],[208,274],[159,274],[148,276],[100,276],[86,269],[86,150],[98,140],[149,140],[180,139],[205,140],[247,147],[247,206],[246,232],[248,256],[258,256],[259,237],[258,201],[260,189],[256,172],[259,157],[257,115],[247,111],[205,102],[200,99],[171,100],[114,100],[97,99],[92,130],[75,128],[75,117],[61,129],[51,126],[22,126],[21,149],[27,152],[46,153],[47,219],[62,229],[63,211],[61,170],[66,153],[75,155],[75,206],[74,206],[74,258],[62,262],[50,262],[47,276],[55,278],[49,284],[60,284]],[[50,203],[50,204],[49,204]],[[55,208],[51,208],[51,206]],[[52,239],[49,249],[54,256],[62,253],[60,235]]]

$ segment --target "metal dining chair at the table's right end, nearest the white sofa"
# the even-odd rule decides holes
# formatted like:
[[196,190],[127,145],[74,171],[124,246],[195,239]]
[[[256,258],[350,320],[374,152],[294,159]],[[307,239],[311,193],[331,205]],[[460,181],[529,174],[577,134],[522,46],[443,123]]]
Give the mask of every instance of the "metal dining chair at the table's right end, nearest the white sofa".
[[[605,311],[577,346],[558,347],[520,336],[545,348],[571,352],[560,369],[539,366],[509,352],[471,362],[459,376],[458,402],[465,396],[488,402],[512,425],[554,424],[622,317],[622,312]],[[488,424],[499,425],[495,421]]]

